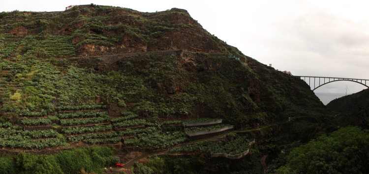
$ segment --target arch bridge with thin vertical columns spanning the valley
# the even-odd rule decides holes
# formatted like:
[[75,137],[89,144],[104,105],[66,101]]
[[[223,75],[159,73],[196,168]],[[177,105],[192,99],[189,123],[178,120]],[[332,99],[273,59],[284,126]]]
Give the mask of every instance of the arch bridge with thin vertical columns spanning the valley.
[[326,85],[332,82],[337,82],[337,81],[355,82],[355,83],[364,85],[366,87],[368,87],[369,85],[369,80],[366,80],[366,79],[352,79],[352,78],[339,78],[339,77],[314,77],[314,76],[295,76],[295,77],[300,77],[300,79],[304,80],[306,83],[308,82],[307,85],[309,85],[310,88],[312,88],[312,90],[315,90],[318,87],[321,87],[323,85]]

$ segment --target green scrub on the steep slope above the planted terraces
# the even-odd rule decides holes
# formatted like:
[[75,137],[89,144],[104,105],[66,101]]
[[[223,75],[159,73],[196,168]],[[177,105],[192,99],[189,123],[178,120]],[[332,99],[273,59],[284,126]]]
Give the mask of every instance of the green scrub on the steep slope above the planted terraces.
[[[59,106],[94,104],[101,98],[100,103],[117,105],[140,116],[196,116],[200,114],[196,113],[197,106],[209,110],[206,114],[225,117],[227,121],[255,119],[267,123],[272,119],[263,117],[272,115],[280,119],[280,113],[291,108],[296,112],[306,106],[323,110],[303,81],[245,56],[242,57],[247,66],[227,56],[200,54],[196,56],[201,61],[197,67],[187,67],[178,55],[153,56],[145,55],[145,52],[142,56],[119,59],[113,64],[99,61],[98,57],[70,58],[85,56],[89,51],[85,46],[89,44],[101,48],[111,46],[112,51],[113,48],[117,51],[117,46],[126,44],[125,37],[136,39],[132,49],[137,49],[140,44],[149,49],[151,42],[145,43],[145,38],[155,38],[149,33],[162,33],[163,36],[180,29],[191,31],[192,35],[205,34],[218,44],[216,46],[222,46],[222,41],[179,9],[141,13],[92,5],[55,13],[3,12],[1,16],[1,69],[10,70],[2,78],[2,84],[7,86],[1,98],[10,100],[3,100],[5,111],[11,107],[17,112],[28,109],[50,113]],[[175,17],[183,18],[184,22],[172,22]],[[191,24],[191,29],[185,28],[183,23]],[[27,33],[18,31],[18,28],[27,28],[24,29]],[[132,34],[133,31],[136,34]],[[193,42],[197,44],[198,41]],[[223,48],[209,49],[220,51]],[[230,52],[232,50],[235,49],[223,53],[240,54],[239,51]],[[123,50],[120,53],[124,53]],[[88,53],[91,54],[108,53]],[[198,72],[200,70],[202,72]],[[301,95],[306,99],[301,99]]]

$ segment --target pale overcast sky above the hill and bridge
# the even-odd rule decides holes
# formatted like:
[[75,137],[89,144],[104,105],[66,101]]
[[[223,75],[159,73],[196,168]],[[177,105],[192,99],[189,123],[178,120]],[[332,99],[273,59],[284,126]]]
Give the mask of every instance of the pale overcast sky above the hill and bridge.
[[[0,11],[112,5],[142,12],[186,9],[246,56],[293,75],[369,79],[369,0],[0,0]],[[315,92],[355,93],[336,82]]]

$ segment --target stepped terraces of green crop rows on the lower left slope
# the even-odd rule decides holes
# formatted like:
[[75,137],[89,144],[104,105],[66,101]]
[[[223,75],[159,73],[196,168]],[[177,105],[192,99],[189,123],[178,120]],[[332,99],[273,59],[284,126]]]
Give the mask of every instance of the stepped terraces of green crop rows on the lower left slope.
[[[18,111],[20,125],[1,124],[0,146],[44,149],[73,144],[123,145],[124,148],[167,149],[188,142],[185,132],[213,130],[229,126],[221,120],[202,118],[187,120],[147,121],[132,112],[111,118],[104,105],[60,106],[57,113],[45,110]],[[206,126],[187,126],[199,123]],[[217,123],[209,122],[217,121]],[[210,124],[210,125],[209,125]]]

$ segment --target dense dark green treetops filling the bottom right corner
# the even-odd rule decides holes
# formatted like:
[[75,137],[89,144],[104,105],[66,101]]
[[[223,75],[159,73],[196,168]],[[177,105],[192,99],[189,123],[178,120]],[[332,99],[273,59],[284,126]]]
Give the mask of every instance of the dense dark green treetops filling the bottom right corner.
[[367,174],[369,130],[344,127],[294,148],[278,174]]

